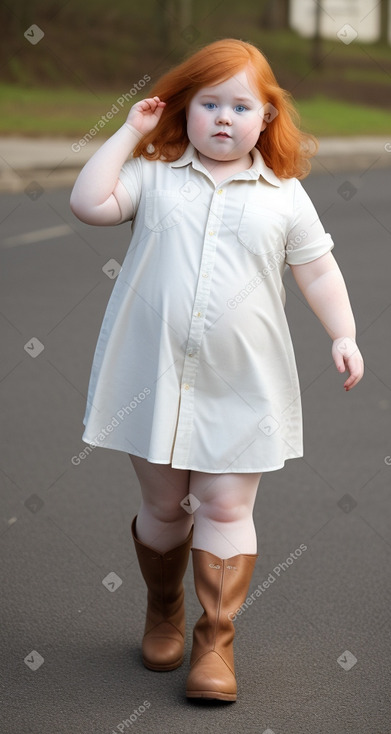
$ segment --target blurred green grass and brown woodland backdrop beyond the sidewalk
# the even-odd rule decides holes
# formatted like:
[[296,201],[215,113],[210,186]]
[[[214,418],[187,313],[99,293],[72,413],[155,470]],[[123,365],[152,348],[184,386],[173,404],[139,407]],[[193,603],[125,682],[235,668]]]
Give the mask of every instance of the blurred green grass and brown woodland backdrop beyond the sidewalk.
[[[388,134],[390,47],[323,40],[323,63],[314,65],[311,39],[283,24],[266,27],[271,2],[277,0],[193,0],[190,18],[180,0],[3,3],[0,131],[82,137],[145,74],[154,83],[197,48],[234,37],[263,51],[307,130]],[[45,34],[36,45],[23,35],[32,23]],[[121,110],[99,134],[110,135],[125,114]]]

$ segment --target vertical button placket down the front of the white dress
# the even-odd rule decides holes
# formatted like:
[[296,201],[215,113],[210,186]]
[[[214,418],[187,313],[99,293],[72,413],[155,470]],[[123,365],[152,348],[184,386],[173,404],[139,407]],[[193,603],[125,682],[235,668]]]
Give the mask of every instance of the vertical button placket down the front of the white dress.
[[179,416],[172,457],[177,463],[185,463],[188,460],[190,451],[194,419],[194,386],[199,366],[199,354],[205,327],[205,317],[210,298],[211,276],[214,269],[218,235],[224,210],[224,200],[224,189],[221,187],[215,189],[205,227],[193,315],[183,364]]

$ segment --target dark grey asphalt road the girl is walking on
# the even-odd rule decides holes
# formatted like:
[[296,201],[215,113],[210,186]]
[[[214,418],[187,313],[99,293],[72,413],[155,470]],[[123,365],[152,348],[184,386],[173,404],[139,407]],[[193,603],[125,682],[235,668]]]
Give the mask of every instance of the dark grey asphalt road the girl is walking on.
[[236,622],[238,700],[209,705],[184,697],[200,613],[191,566],[185,664],[150,672],[130,460],[96,449],[72,462],[107,263],[122,262],[128,226],[83,225],[68,190],[2,196],[2,734],[390,734],[390,178],[325,173],[305,187],[335,241],[366,373],[346,394],[287,272],[305,456],[261,479],[250,591],[270,583]]

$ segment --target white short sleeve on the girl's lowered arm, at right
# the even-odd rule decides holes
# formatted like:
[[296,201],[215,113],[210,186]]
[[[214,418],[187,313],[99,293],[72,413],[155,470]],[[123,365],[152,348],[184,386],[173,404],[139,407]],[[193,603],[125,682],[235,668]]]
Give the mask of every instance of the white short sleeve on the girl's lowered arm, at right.
[[310,197],[297,179],[289,226],[285,246],[285,260],[288,265],[304,265],[325,255],[334,247],[334,242],[325,232]]

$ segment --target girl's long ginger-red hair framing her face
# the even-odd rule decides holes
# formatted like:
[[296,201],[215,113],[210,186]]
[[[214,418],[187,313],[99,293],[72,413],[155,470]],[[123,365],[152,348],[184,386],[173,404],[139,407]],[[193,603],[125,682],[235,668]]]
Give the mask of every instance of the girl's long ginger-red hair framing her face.
[[[186,132],[186,108],[202,87],[226,81],[249,67],[254,92],[273,105],[270,122],[261,132],[256,148],[266,165],[278,178],[304,178],[317,151],[317,141],[297,127],[298,114],[291,95],[278,84],[265,56],[251,43],[235,38],[205,46],[162,76],[150,96],[166,102],[156,127],[137,144],[133,155],[149,160],[174,161],[189,143]],[[277,110],[277,113],[276,111]]]

